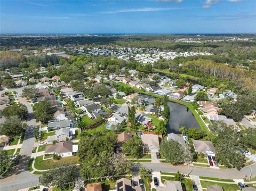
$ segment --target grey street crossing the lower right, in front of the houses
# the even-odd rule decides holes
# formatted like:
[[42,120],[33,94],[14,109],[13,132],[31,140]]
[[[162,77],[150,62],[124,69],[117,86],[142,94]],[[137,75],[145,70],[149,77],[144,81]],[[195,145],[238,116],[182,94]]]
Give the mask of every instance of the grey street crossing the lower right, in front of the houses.
[[173,166],[167,163],[149,163],[143,162],[140,163],[145,168],[153,171],[162,171],[162,172],[177,172],[189,174],[189,175],[197,175],[197,176],[205,176],[205,177],[214,177],[214,178],[223,178],[223,179],[243,179],[245,176],[249,177],[251,172],[252,176],[256,176],[256,164],[250,165],[249,167],[245,167],[241,170],[237,169],[210,169],[210,168],[202,168],[202,167],[192,167],[187,165],[181,166]]

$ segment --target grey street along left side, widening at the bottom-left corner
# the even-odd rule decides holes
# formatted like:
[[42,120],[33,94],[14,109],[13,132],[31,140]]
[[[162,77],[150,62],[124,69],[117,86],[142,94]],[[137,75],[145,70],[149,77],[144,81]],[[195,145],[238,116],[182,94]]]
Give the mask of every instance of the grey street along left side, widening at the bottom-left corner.
[[34,147],[34,129],[36,126],[36,120],[34,119],[34,113],[32,107],[26,101],[25,98],[22,98],[22,88],[9,89],[14,90],[18,93],[19,101],[26,105],[28,108],[28,118],[27,118],[27,130],[24,138],[23,145],[20,150],[20,155],[22,159],[20,163],[15,166],[10,172],[9,175],[0,180],[0,190],[2,191],[11,191],[16,189],[22,189],[27,187],[33,187],[39,184],[38,177],[39,175],[33,175],[28,171],[28,162],[30,159],[31,151]]

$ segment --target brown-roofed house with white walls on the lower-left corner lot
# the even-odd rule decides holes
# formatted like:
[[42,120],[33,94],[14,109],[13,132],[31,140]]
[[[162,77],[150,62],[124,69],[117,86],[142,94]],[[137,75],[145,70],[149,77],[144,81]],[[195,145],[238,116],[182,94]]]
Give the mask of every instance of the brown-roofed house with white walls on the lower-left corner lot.
[[45,154],[58,154],[61,157],[72,156],[78,151],[78,145],[73,145],[73,142],[60,142],[55,145],[49,145],[45,148]]

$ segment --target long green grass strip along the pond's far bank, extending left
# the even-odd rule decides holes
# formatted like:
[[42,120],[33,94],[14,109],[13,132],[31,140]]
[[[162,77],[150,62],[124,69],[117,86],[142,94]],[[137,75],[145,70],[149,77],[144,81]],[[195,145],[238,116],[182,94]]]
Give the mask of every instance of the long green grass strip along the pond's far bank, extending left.
[[[130,85],[126,85],[126,84],[124,84],[122,82],[117,82],[116,84],[119,85],[119,86],[123,86],[123,87],[131,87]],[[135,87],[131,87],[131,88],[133,90],[135,90],[135,92],[138,92],[138,93],[141,93],[141,94],[146,94],[146,95],[149,95],[149,96],[152,96],[152,97],[161,97],[161,96],[155,95],[153,93],[144,92],[142,89],[139,89],[139,88],[135,88]],[[194,109],[192,104],[186,103],[186,102],[182,102],[182,101],[179,101],[179,100],[176,100],[176,99],[171,99],[171,98],[169,98],[168,101],[174,102],[174,103],[178,103],[178,104],[181,104],[181,105],[185,105],[186,107],[188,107],[188,109],[194,115],[197,123],[199,124],[199,127],[201,128],[201,130],[205,131],[205,132],[209,132],[209,129],[205,126],[204,122],[199,117],[198,113],[196,112],[196,110]]]

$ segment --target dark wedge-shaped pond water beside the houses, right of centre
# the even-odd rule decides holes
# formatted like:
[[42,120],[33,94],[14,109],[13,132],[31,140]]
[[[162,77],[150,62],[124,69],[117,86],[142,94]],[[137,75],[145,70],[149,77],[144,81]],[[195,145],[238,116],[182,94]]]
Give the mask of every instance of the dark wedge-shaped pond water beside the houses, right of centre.
[[170,118],[167,123],[167,133],[173,132],[174,134],[179,134],[179,128],[181,126],[185,126],[186,129],[197,128],[200,130],[196,118],[186,106],[173,102],[168,102],[167,104],[170,107]]

